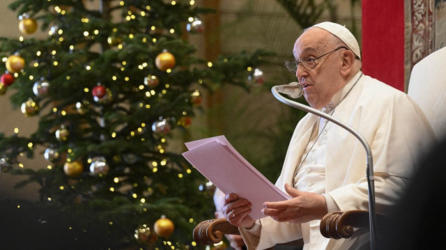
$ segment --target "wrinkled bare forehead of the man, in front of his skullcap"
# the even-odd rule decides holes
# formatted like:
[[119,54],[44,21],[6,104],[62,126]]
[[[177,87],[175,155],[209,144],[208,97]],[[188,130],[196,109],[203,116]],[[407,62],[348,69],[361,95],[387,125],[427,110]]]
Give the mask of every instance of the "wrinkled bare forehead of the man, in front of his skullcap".
[[307,29],[294,43],[294,57],[300,58],[304,54],[323,51],[328,46],[328,38],[330,38],[328,31],[316,27]]

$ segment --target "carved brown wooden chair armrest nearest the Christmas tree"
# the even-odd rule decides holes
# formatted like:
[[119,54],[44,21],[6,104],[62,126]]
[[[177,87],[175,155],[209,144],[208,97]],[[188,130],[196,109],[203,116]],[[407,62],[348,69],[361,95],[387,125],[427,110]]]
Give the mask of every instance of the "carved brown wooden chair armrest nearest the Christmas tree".
[[194,228],[194,241],[200,245],[221,242],[224,235],[240,235],[240,232],[238,227],[229,224],[226,219],[208,219]]

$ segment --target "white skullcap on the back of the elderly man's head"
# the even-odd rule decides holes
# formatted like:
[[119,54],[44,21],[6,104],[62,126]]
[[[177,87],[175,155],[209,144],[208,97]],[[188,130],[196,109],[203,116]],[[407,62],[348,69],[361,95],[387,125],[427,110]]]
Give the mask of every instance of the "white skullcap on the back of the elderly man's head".
[[320,24],[315,24],[314,27],[325,29],[325,31],[337,36],[357,57],[361,58],[360,45],[357,44],[355,36],[345,26],[335,24],[334,22],[321,22]]

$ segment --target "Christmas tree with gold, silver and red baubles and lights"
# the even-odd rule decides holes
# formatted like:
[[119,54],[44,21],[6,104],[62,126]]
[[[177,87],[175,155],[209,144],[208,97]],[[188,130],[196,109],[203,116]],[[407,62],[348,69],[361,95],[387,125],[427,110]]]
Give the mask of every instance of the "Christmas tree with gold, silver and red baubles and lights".
[[[29,137],[0,134],[0,169],[26,175],[18,187],[40,185],[38,204],[2,201],[11,224],[33,231],[13,246],[193,249],[192,229],[215,208],[203,176],[169,150],[172,134],[187,132],[202,91],[249,88],[268,54],[198,58],[186,38],[212,10],[194,1],[90,2],[10,5],[24,36],[0,40],[0,91],[39,124]],[[20,162],[37,154],[47,166]]]

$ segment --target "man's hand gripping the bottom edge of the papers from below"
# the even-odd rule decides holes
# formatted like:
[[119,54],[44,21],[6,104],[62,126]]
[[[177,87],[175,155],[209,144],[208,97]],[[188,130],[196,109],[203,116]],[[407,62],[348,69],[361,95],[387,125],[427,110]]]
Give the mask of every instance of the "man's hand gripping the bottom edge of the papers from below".
[[224,197],[224,217],[234,226],[252,228],[254,219],[248,216],[252,211],[251,203],[245,198],[239,198],[237,194],[227,194]]

